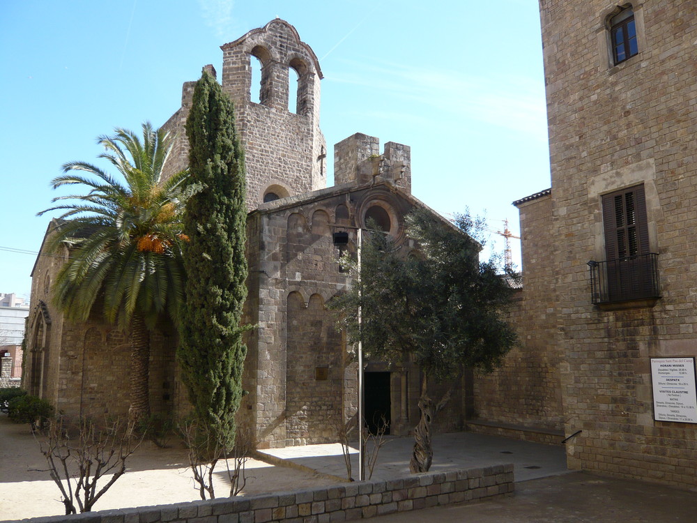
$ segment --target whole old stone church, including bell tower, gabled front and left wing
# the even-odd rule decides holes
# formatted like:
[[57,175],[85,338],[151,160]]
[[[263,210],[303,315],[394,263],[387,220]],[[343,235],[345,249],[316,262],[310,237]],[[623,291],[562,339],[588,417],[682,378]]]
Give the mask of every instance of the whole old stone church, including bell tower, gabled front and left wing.
[[[411,195],[411,151],[356,134],[335,146],[335,185],[326,188],[328,155],[319,127],[319,62],[296,29],[273,20],[222,46],[222,88],[236,109],[247,165],[249,294],[240,421],[254,428],[261,448],[337,441],[337,427],[355,416],[357,366],[327,302],[349,285],[339,264],[335,232],[348,234],[374,218],[409,249],[404,217],[424,204]],[[261,85],[252,86],[259,61]],[[216,76],[213,66],[206,66]],[[297,89],[289,85],[291,69]],[[164,124],[176,133],[167,166],[187,165],[183,130],[195,82],[183,85],[182,105]],[[259,103],[252,102],[259,89]],[[289,109],[295,98],[295,111]],[[291,109],[293,104],[291,103]],[[49,229],[52,226],[49,226]],[[66,414],[125,415],[128,340],[94,317],[72,325],[49,300],[49,287],[66,259],[40,255],[34,267],[25,386]],[[174,361],[176,335],[162,325],[151,349],[151,408],[183,414],[187,398]],[[384,415],[391,434],[418,421],[420,376],[408,362],[366,368],[367,415]],[[441,430],[464,426],[464,393],[454,394]]]

